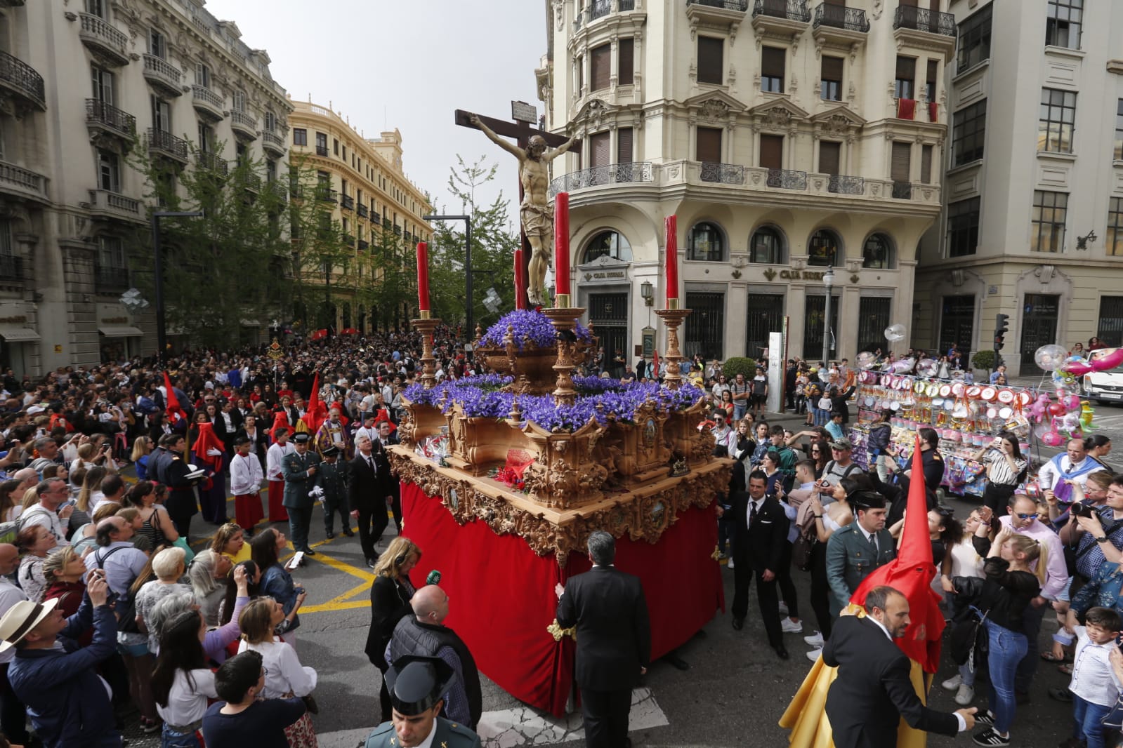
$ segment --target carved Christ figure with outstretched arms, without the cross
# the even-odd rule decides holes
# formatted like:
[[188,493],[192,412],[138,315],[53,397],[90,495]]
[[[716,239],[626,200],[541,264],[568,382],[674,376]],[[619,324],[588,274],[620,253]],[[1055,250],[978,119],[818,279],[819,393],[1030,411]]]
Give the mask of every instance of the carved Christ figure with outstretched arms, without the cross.
[[575,138],[569,138],[557,148],[550,148],[541,136],[532,136],[527,149],[511,145],[499,137],[473,114],[469,119],[474,127],[483,130],[487,139],[519,159],[519,181],[522,183],[522,204],[519,206],[519,219],[522,230],[530,242],[530,267],[527,273],[527,301],[535,306],[549,303],[546,293],[546,270],[550,266],[550,251],[554,249],[554,207],[550,206],[547,188],[549,174],[547,165],[569,150]]

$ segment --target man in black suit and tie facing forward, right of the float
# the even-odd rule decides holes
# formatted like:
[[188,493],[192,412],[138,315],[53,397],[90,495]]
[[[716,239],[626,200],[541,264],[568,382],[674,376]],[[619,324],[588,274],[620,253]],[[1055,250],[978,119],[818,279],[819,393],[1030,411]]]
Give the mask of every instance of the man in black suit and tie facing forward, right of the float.
[[757,580],[757,602],[768,645],[780,659],[787,659],[784,634],[779,624],[779,598],[776,594],[776,572],[787,545],[788,519],[775,498],[765,496],[768,478],[760,470],[749,474],[748,492],[732,496],[733,520],[733,628],[745,626],[749,611],[749,583]]

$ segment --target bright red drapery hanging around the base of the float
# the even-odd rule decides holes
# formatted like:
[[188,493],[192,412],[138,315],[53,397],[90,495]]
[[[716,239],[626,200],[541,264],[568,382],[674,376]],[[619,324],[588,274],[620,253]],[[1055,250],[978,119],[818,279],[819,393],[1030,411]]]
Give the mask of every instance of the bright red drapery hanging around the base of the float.
[[[514,535],[496,535],[482,521],[456,524],[439,498],[402,483],[403,534],[417,543],[421,563],[412,578],[424,583],[441,572],[449,595],[448,626],[463,638],[480,671],[511,695],[560,717],[573,684],[574,641],[555,641],[554,585],[590,567],[569,554],[566,569],[555,556],[535,554]],[[711,554],[718,543],[713,511],[691,508],[656,544],[617,541],[617,566],[643,582],[651,618],[651,657],[682,645],[724,610],[721,567]]]

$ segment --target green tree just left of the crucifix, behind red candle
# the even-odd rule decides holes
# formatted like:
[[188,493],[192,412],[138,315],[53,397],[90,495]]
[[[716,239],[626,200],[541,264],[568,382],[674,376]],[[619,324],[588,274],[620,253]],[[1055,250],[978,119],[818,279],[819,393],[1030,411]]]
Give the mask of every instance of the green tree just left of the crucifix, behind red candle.
[[[519,248],[518,225],[512,225],[510,201],[500,191],[487,205],[476,202],[476,192],[495,178],[495,165],[486,157],[468,164],[457,156],[457,166],[449,169],[448,192],[454,204],[472,216],[473,318],[486,330],[491,322],[514,308],[514,250]],[[444,211],[441,211],[444,212]],[[467,321],[466,242],[463,221],[438,221],[433,225],[429,261],[430,302],[433,314],[450,325]],[[502,303],[499,312],[490,312],[483,299],[489,288],[495,288]],[[466,334],[474,334],[466,331]]]

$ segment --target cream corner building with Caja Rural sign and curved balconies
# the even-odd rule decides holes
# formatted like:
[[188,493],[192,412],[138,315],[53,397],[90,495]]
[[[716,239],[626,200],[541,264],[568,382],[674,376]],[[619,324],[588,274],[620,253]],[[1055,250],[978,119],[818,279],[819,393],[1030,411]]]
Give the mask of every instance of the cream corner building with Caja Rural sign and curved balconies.
[[[909,322],[916,246],[940,214],[947,0],[548,0],[547,127],[583,153],[570,193],[576,299],[634,359],[663,305],[678,216],[685,349],[837,358]],[[906,343],[904,343],[906,344]],[[663,350],[664,343],[657,343]],[[900,344],[898,344],[900,345]]]

